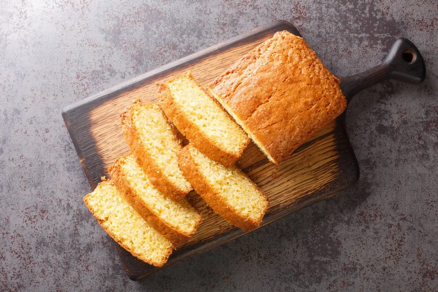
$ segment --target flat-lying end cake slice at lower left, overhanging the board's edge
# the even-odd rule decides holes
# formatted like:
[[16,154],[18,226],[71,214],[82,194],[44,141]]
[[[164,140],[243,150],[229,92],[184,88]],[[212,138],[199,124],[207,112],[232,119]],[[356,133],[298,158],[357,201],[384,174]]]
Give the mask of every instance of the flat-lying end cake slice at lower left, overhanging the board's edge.
[[138,215],[113,181],[99,183],[84,202],[106,233],[134,257],[155,267],[166,264],[173,243]]

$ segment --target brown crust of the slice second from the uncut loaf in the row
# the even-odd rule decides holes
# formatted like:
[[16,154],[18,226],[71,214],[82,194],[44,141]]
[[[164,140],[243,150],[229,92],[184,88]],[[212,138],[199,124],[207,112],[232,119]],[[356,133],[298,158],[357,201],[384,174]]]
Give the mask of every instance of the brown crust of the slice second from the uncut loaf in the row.
[[138,100],[135,100],[134,104],[128,106],[124,110],[124,112],[120,114],[123,134],[125,135],[126,142],[131,149],[131,152],[137,158],[138,164],[146,172],[146,175],[148,176],[149,181],[152,183],[152,185],[155,186],[155,188],[162,192],[165,196],[170,197],[172,201],[178,202],[183,197],[185,197],[187,193],[190,193],[192,188],[190,187],[181,189],[180,187],[174,185],[163,173],[162,169],[155,163],[149,152],[145,150],[143,144],[141,143],[141,139],[138,135],[138,131],[135,127],[135,123],[132,117],[133,111],[135,109],[140,110],[140,108],[143,106],[145,108],[154,108],[162,112],[166,123],[170,126],[170,129],[172,129],[175,139],[177,140],[178,144],[181,144],[181,141],[177,138],[177,134],[172,123],[170,123],[170,120],[167,118],[163,110],[158,105],[152,102],[142,105]]

